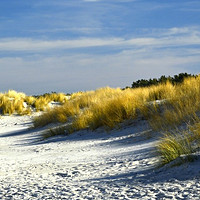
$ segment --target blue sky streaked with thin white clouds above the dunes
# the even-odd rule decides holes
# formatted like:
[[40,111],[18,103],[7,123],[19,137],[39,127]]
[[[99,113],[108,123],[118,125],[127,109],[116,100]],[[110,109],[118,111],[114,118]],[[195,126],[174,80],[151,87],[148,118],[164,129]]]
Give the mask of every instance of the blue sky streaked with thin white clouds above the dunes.
[[200,73],[199,0],[1,0],[0,92]]

